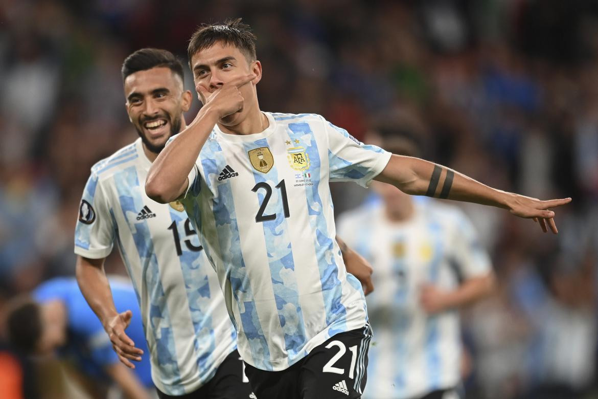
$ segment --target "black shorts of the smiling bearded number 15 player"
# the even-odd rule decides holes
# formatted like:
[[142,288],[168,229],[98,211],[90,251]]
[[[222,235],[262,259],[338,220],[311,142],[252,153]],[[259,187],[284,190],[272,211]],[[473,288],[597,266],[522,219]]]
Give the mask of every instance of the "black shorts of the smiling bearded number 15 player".
[[182,396],[166,395],[158,389],[158,397],[160,399],[255,399],[249,381],[243,374],[243,361],[236,349],[224,358],[216,369],[216,374],[201,388]]

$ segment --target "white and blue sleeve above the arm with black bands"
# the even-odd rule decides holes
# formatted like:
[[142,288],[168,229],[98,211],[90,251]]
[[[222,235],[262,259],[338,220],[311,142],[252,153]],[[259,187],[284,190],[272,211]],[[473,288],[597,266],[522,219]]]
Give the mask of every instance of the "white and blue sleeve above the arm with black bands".
[[388,164],[388,151],[358,141],[347,130],[324,121],[328,135],[330,181],[355,181],[368,187]]

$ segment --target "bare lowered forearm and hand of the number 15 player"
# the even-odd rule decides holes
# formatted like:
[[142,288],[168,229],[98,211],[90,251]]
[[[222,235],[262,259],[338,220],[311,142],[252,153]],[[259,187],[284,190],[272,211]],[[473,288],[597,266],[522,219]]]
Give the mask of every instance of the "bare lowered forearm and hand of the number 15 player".
[[135,342],[124,333],[125,328],[129,327],[133,313],[130,310],[122,313],[117,312],[114,299],[112,299],[110,284],[104,272],[104,259],[78,256],[75,273],[81,293],[83,293],[93,312],[96,313],[97,318],[102,322],[118,359],[125,366],[135,368],[130,360],[140,361],[144,351],[135,348]]

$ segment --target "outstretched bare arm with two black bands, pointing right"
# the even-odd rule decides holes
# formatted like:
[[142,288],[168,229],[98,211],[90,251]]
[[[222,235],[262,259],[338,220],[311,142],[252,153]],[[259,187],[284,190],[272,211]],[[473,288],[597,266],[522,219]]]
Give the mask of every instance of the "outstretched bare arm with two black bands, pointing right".
[[376,180],[390,183],[407,194],[425,195],[508,209],[521,218],[539,221],[544,232],[547,223],[553,233],[554,212],[550,208],[565,205],[570,198],[541,201],[535,198],[496,190],[445,166],[419,158],[393,155]]

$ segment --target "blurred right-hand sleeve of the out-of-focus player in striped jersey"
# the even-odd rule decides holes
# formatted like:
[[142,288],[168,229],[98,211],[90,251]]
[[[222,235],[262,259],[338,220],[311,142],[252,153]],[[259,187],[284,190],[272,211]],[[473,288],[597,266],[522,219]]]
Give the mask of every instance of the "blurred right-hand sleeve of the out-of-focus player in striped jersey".
[[453,260],[465,279],[485,275],[492,268],[490,257],[471,221],[460,211],[456,215],[451,245]]

